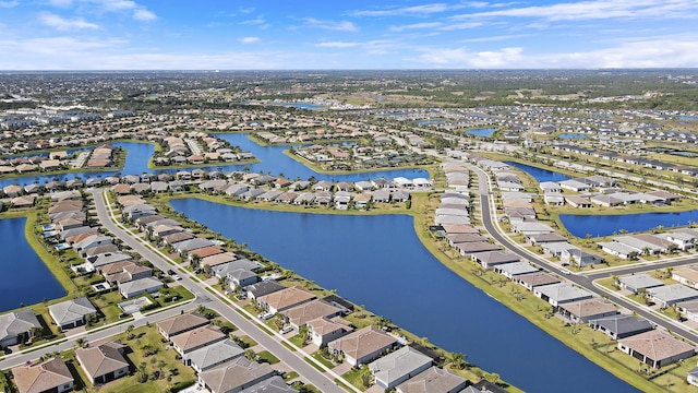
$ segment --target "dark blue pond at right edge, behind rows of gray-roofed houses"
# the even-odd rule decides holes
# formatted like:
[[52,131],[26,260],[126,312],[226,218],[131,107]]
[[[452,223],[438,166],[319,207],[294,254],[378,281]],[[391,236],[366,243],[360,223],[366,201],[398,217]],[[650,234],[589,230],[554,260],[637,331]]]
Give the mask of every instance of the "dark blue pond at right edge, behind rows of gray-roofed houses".
[[678,213],[638,213],[616,215],[575,215],[561,214],[563,225],[574,236],[583,238],[587,234],[592,237],[619,234],[621,229],[628,233],[647,231],[659,225],[664,228],[684,226],[689,222],[698,222],[698,210]]

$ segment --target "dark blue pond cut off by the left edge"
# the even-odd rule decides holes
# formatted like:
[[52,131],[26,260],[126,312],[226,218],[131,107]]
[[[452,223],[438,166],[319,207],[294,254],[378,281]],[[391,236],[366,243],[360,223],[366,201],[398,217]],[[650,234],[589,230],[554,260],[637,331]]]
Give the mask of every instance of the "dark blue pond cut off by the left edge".
[[0,312],[65,296],[24,237],[25,225],[25,217],[0,219],[0,267],[8,274],[0,285]]

